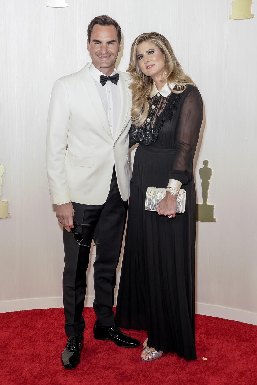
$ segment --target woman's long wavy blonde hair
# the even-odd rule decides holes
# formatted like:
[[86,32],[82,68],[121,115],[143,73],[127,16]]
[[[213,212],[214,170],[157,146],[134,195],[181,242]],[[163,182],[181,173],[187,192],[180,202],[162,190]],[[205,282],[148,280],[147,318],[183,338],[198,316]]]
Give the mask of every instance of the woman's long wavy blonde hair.
[[147,119],[149,112],[148,98],[153,85],[153,79],[143,74],[138,65],[136,50],[138,45],[150,41],[155,44],[165,55],[165,67],[163,69],[163,83],[175,83],[176,90],[170,88],[171,92],[180,94],[186,89],[187,84],[195,85],[193,80],[186,75],[180,63],[175,57],[173,49],[171,48],[168,40],[157,32],[141,33],[133,42],[130,52],[129,68],[127,71],[132,79],[129,88],[132,91],[132,124],[135,126],[141,126]]

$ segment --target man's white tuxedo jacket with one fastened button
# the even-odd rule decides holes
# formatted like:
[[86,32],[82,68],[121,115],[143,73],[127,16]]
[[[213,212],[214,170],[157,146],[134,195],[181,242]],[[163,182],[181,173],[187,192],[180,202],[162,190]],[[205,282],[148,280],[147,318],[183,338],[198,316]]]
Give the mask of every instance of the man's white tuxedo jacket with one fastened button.
[[[89,71],[91,63],[56,80],[47,122],[46,166],[52,203],[101,205],[108,196],[113,164],[121,198],[129,197],[131,91],[119,73],[121,112],[116,137]],[[114,106],[115,108],[115,106]]]

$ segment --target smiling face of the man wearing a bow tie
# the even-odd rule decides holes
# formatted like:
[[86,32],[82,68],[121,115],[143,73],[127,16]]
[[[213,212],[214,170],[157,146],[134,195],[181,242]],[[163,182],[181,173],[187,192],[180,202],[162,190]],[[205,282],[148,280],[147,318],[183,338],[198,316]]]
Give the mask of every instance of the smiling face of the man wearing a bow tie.
[[93,65],[106,75],[111,75],[115,68],[115,62],[121,50],[121,42],[114,25],[94,25],[90,42],[87,40]]

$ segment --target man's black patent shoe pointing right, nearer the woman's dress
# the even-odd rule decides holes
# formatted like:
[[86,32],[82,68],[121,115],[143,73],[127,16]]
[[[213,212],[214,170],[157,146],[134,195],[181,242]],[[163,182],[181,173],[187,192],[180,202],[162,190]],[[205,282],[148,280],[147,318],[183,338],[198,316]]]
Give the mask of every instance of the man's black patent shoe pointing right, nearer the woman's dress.
[[106,326],[104,328],[94,325],[93,331],[96,340],[110,340],[121,348],[136,348],[140,345],[138,340],[124,334],[116,325]]

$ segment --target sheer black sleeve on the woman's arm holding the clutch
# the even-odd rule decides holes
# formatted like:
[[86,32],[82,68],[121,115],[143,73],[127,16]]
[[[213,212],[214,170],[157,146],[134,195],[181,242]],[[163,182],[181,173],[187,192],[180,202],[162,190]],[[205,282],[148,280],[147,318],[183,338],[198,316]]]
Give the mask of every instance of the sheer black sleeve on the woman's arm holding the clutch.
[[191,177],[193,157],[203,120],[203,102],[200,92],[192,87],[185,97],[180,110],[176,133],[176,156],[170,178],[185,184]]

